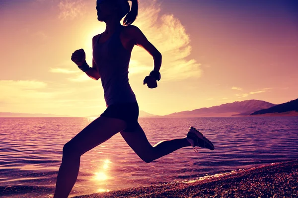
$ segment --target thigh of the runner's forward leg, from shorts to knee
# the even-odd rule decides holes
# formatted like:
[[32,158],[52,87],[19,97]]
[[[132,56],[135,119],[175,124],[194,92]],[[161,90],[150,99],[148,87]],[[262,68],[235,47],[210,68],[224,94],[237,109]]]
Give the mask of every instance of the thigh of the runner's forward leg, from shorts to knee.
[[124,130],[126,126],[127,124],[123,120],[100,116],[67,142],[64,150],[82,155]]

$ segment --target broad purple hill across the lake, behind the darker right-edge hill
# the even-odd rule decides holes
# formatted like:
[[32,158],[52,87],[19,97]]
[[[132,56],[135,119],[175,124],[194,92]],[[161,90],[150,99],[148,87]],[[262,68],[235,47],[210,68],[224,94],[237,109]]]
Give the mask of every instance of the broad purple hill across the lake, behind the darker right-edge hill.
[[210,108],[200,108],[192,111],[175,112],[163,117],[228,117],[228,116],[244,116],[251,113],[267,109],[275,106],[275,104],[262,100],[244,100],[233,103],[226,103]]

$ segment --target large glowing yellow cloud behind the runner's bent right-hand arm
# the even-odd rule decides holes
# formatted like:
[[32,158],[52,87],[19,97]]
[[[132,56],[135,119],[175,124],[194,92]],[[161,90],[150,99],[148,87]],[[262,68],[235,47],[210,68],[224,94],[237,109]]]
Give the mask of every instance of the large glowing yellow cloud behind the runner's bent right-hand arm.
[[[142,1],[139,16],[134,25],[141,29],[149,42],[162,54],[160,68],[162,79],[181,80],[200,77],[201,64],[194,59],[187,59],[192,47],[184,25],[173,14],[159,16],[160,7],[160,3],[156,0]],[[138,65],[132,60],[138,60]],[[132,74],[148,75],[153,69],[152,57],[138,46],[134,48],[131,61],[130,72]]]

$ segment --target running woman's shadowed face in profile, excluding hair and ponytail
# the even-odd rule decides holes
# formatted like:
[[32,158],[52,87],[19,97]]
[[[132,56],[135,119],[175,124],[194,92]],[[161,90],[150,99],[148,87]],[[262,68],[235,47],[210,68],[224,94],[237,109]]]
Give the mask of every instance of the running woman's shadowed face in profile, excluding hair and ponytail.
[[96,0],[97,19],[105,21],[115,14],[115,5],[111,0]]

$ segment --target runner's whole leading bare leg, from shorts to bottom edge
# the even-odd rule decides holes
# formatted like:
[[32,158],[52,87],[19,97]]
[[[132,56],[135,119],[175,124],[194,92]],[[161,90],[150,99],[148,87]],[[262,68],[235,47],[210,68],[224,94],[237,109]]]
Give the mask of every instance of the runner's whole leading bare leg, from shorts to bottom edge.
[[77,179],[82,154],[125,128],[125,121],[101,116],[67,142],[63,147],[54,198],[68,198]]

